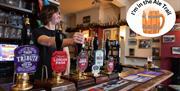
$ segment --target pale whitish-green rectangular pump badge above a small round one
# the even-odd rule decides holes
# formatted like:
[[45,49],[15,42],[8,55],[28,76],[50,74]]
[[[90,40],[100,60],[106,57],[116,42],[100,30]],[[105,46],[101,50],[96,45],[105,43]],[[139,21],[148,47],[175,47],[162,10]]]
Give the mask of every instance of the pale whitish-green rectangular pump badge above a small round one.
[[95,65],[103,66],[103,50],[97,50],[95,51]]

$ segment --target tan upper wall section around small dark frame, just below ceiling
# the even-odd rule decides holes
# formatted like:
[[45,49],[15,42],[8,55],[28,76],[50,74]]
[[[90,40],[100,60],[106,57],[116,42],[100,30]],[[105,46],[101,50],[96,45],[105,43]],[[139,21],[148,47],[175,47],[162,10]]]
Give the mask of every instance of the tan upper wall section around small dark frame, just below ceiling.
[[98,22],[99,21],[99,7],[95,7],[92,9],[88,9],[88,10],[84,10],[84,11],[76,13],[76,24],[82,24],[83,23],[82,20],[84,16],[90,16],[91,23]]

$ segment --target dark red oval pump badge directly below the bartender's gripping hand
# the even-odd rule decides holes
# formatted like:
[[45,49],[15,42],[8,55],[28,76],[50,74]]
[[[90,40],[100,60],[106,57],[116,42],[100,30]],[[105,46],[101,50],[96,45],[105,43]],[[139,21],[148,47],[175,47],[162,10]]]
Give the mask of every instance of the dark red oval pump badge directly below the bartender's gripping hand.
[[88,66],[88,56],[87,56],[87,52],[82,51],[80,52],[78,58],[77,58],[77,64],[78,64],[78,69],[80,72],[84,72]]

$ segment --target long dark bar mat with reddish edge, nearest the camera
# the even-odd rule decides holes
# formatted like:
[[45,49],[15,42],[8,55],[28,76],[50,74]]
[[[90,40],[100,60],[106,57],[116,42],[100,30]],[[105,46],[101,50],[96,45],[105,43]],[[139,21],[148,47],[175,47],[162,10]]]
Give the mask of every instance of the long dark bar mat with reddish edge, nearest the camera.
[[[109,82],[105,82],[96,86],[92,86],[86,89],[82,89],[80,91],[127,91],[129,89],[132,89],[133,87],[137,86],[139,83],[135,83],[132,81],[127,81],[127,80],[111,80]],[[126,88],[126,90],[121,90],[124,89],[125,87],[128,87],[129,89]]]

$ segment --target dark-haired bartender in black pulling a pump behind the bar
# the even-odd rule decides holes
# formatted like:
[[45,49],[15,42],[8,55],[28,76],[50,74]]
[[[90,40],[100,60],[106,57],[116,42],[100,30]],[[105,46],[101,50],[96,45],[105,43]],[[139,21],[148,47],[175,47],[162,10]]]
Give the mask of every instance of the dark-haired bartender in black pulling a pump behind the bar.
[[[42,11],[40,12],[40,19],[44,26],[33,30],[34,43],[40,51],[40,61],[38,62],[37,71],[35,72],[35,79],[43,79],[45,72],[48,73],[48,78],[52,78],[53,71],[50,61],[52,53],[56,50],[55,26],[61,20],[61,15],[58,7],[53,5],[44,6]],[[74,33],[72,38],[65,38],[65,35],[63,33],[62,35],[62,47],[75,45],[77,43],[84,43],[84,37],[82,33],[76,32]],[[70,67],[68,67],[67,69],[69,68]],[[45,71],[43,72],[44,69]]]

